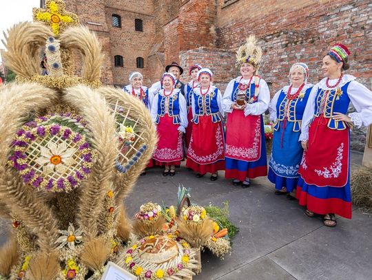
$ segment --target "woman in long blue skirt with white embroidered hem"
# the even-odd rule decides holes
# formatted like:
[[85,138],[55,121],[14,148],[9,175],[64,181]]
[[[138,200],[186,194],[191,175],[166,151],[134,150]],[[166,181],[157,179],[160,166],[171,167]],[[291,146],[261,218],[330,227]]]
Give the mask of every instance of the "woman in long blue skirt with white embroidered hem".
[[269,111],[273,120],[273,150],[269,160],[271,183],[275,184],[275,194],[289,195],[296,189],[298,168],[303,149],[298,142],[302,115],[313,85],[307,84],[309,67],[305,63],[295,63],[289,70],[290,85],[278,91],[271,100]]

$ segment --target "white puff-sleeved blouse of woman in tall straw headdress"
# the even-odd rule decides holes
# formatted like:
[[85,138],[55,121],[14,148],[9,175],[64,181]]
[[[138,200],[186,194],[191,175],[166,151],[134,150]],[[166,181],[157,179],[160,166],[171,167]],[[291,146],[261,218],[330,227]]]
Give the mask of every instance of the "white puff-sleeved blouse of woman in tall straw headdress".
[[[231,100],[231,94],[234,89],[234,82],[236,81],[246,85],[248,85],[249,83],[249,80],[244,79],[240,80],[240,78],[242,77],[238,76],[237,78],[230,80],[229,84],[225,89],[225,94],[223,94],[223,111],[227,113],[231,113],[233,111],[231,105],[234,103],[234,101]],[[267,83],[262,78],[260,78],[259,90],[260,93],[258,94],[258,101],[253,104],[247,104],[247,107],[245,107],[244,109],[245,116],[248,115],[260,116],[265,113],[267,108],[269,108],[270,91],[269,87],[267,86]]]

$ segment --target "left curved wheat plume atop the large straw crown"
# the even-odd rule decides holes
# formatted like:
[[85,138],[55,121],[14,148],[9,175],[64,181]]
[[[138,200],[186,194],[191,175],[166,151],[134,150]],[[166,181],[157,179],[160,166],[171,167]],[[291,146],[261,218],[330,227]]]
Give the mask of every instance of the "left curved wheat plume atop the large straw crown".
[[30,78],[40,73],[39,50],[45,40],[53,36],[52,31],[42,23],[18,23],[4,33],[4,45],[8,52],[3,54],[4,63],[21,78]]

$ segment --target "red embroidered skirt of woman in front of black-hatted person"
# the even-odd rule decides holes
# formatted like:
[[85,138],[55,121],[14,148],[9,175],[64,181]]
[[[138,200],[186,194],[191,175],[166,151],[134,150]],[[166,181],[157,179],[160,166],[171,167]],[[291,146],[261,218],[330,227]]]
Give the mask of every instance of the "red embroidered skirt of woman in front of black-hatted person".
[[158,146],[152,158],[156,165],[179,165],[183,160],[182,135],[178,132],[180,125],[173,124],[173,118],[165,114],[156,127]]

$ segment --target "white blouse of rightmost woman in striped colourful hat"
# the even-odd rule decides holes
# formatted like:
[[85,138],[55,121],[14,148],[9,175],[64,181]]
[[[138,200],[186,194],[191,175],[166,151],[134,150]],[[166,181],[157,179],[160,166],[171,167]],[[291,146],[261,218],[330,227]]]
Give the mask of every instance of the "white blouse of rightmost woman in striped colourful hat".
[[[327,78],[320,80],[313,89],[307,100],[307,105],[304,110],[304,116],[302,117],[302,127],[299,141],[309,140],[309,125],[313,119],[315,111],[315,99],[318,94],[318,89],[331,90],[326,85]],[[338,79],[329,80],[331,85],[335,85]],[[346,83],[350,82],[347,87],[347,95],[349,96],[351,103],[355,107],[356,112],[349,114],[351,122],[355,127],[361,127],[362,125],[367,126],[372,123],[372,91],[364,87],[361,83],[355,80],[354,76],[344,75],[340,82],[339,87],[342,87]],[[333,89],[333,88],[332,88]]]

